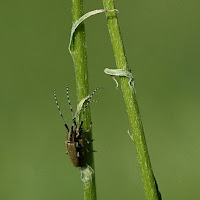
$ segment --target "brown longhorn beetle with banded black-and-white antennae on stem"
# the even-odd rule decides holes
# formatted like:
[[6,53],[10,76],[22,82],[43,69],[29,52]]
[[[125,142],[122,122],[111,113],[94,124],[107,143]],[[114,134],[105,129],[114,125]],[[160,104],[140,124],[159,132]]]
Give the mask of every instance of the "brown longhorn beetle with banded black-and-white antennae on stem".
[[66,147],[66,154],[68,154],[72,164],[75,167],[84,167],[86,165],[85,163],[85,155],[86,153],[89,152],[88,148],[87,148],[87,144],[89,144],[91,141],[93,140],[87,140],[86,138],[83,137],[83,135],[85,133],[90,132],[91,130],[91,124],[90,124],[90,129],[87,131],[83,131],[83,120],[80,122],[80,125],[77,124],[76,122],[76,116],[79,115],[81,113],[81,111],[83,110],[83,115],[85,114],[85,110],[87,108],[87,106],[89,105],[89,103],[92,102],[98,102],[98,101],[91,101],[92,96],[94,95],[94,93],[100,88],[96,88],[92,94],[89,96],[89,98],[87,99],[87,103],[85,104],[85,106],[83,106],[79,112],[73,116],[73,110],[72,110],[72,106],[71,106],[71,102],[69,99],[69,91],[68,91],[68,86],[66,85],[66,91],[67,91],[67,99],[68,99],[68,104],[72,113],[72,125],[69,128],[68,125],[66,124],[64,117],[61,113],[58,101],[57,101],[57,97],[56,97],[56,92],[54,89],[54,99],[58,108],[58,111],[60,113],[60,116],[64,122],[65,128],[66,128],[66,141],[65,141],[65,147]]

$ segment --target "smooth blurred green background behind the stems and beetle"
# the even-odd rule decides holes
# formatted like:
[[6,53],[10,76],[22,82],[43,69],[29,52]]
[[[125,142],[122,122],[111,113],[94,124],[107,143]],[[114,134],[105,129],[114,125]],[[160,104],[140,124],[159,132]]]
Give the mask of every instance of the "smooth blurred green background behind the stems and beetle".
[[[163,199],[200,199],[200,3],[116,0],[119,22],[152,166]],[[0,199],[83,199],[79,170],[65,155],[56,88],[71,123],[65,84],[76,107],[67,50],[71,1],[1,1]],[[85,12],[102,8],[85,1]],[[105,15],[86,21],[99,200],[144,199],[120,90],[103,73],[115,68]]]

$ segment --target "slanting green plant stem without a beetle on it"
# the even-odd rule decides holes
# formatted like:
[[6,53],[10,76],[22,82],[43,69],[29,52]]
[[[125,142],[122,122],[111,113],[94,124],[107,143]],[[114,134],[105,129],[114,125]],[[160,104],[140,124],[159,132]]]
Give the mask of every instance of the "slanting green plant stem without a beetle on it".
[[[103,0],[104,8],[107,10],[115,9],[113,0]],[[129,70],[125,56],[122,37],[120,34],[119,24],[116,13],[106,13],[108,29],[115,55],[115,61],[118,69]],[[158,200],[159,194],[151,168],[150,158],[148,154],[147,144],[144,135],[144,129],[139,113],[136,94],[129,86],[129,79],[120,77],[121,88],[124,101],[127,108],[131,131],[136,147],[137,159],[142,175],[143,186],[147,200]]]

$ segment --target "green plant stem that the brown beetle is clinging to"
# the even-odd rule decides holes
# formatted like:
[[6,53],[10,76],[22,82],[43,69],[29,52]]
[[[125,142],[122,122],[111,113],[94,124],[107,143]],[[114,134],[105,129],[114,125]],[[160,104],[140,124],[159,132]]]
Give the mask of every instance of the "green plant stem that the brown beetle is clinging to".
[[[83,0],[72,1],[72,16],[73,23],[77,21],[83,15]],[[88,70],[87,70],[87,53],[85,42],[85,26],[81,23],[76,29],[72,39],[71,54],[74,61],[75,74],[76,74],[76,89],[77,89],[77,101],[78,103],[89,94],[88,85]],[[90,128],[91,115],[89,108],[86,109],[84,115],[83,130]],[[92,132],[86,134],[87,139],[92,138]],[[93,149],[92,143],[89,146]],[[95,173],[94,173],[94,158],[93,153],[88,153],[85,161],[88,166],[81,169],[84,199],[96,200],[96,186],[95,186]],[[90,167],[89,167],[90,166]],[[88,173],[88,171],[90,173]],[[84,177],[84,178],[83,178]]]

